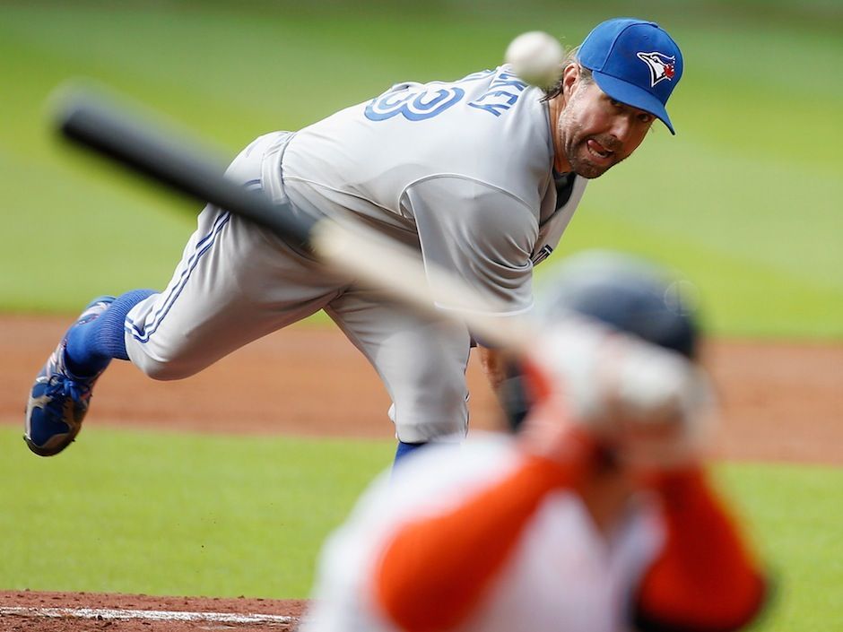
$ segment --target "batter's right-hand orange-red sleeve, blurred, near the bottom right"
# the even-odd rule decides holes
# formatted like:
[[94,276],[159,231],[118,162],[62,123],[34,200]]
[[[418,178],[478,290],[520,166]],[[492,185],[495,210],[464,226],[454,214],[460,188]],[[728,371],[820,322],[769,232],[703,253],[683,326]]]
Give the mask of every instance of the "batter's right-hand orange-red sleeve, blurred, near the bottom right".
[[703,472],[656,481],[663,500],[665,547],[639,589],[643,630],[721,632],[749,622],[764,601],[765,582]]

